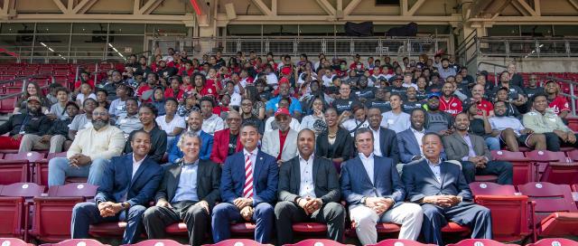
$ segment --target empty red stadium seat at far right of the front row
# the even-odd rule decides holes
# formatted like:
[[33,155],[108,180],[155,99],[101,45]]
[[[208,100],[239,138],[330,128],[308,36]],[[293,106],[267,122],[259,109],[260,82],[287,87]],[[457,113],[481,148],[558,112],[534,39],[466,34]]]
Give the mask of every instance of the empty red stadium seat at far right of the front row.
[[556,237],[578,235],[578,209],[569,185],[532,182],[517,185],[521,194],[532,201],[534,239],[537,236]]

